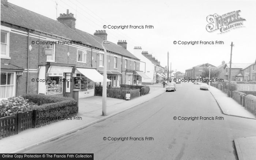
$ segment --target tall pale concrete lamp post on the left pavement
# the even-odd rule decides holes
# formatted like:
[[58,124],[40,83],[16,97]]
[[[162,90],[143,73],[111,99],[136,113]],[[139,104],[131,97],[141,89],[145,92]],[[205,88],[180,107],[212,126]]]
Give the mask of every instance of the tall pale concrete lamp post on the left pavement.
[[102,85],[102,115],[106,115],[107,110],[107,51],[104,47],[104,44],[109,44],[108,41],[103,41],[101,43],[102,48],[104,49],[104,56],[103,56],[103,85]]

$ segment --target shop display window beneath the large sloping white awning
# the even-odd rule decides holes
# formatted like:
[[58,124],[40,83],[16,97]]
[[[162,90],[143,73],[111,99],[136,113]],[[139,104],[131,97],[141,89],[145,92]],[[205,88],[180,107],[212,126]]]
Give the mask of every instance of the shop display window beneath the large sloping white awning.
[[83,74],[76,74],[76,77],[74,77],[74,82],[74,89],[79,89],[80,92],[94,89],[94,82]]

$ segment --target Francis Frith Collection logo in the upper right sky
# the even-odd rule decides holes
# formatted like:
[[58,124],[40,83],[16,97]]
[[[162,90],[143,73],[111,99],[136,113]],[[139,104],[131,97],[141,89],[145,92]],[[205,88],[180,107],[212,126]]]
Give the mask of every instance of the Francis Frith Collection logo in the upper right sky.
[[234,28],[244,27],[244,18],[239,15],[240,10],[228,12],[223,15],[213,14],[208,15],[206,20],[209,24],[206,26],[208,32],[219,30],[220,33],[226,33]]

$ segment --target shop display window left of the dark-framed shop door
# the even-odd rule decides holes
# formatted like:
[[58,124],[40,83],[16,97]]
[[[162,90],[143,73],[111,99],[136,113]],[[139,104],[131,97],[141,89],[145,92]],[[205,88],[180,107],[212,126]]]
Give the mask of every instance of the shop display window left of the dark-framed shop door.
[[47,95],[62,93],[63,77],[49,77],[47,83]]

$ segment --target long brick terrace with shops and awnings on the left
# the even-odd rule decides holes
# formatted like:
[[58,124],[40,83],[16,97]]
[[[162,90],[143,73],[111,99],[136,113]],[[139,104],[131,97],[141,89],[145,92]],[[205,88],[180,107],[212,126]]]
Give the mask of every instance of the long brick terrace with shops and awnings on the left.
[[[1,0],[0,99],[26,93],[72,96],[72,89],[80,90],[79,98],[94,95],[103,81],[107,33],[86,33],[75,21],[68,10],[56,21]],[[127,42],[104,46],[108,86],[138,84],[140,61]]]

